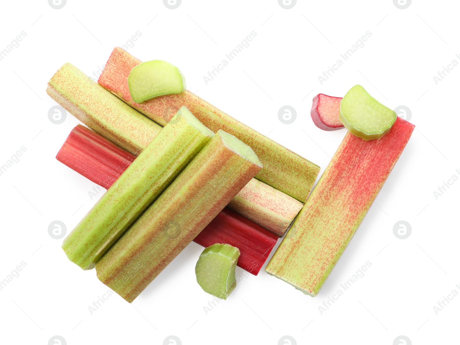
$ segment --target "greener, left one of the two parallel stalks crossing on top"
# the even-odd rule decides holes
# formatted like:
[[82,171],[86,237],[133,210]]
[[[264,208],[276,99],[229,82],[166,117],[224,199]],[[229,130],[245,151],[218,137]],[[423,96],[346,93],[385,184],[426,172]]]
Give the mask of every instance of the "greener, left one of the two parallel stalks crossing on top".
[[93,268],[213,135],[186,107],[179,109],[64,240],[70,261]]

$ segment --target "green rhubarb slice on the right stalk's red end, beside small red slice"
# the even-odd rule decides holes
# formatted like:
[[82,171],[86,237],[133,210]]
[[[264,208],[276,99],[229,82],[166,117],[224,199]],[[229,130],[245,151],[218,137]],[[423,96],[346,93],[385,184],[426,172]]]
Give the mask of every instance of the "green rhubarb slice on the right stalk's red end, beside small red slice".
[[339,117],[348,131],[364,140],[372,140],[388,132],[397,115],[369,95],[364,87],[355,85],[340,102]]

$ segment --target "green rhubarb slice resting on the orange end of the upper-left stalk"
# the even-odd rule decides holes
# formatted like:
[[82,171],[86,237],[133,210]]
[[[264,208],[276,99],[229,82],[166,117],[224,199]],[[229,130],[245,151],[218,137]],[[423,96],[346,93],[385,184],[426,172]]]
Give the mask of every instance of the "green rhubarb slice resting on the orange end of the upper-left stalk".
[[129,93],[136,103],[186,90],[185,77],[167,61],[151,60],[138,64],[128,76]]

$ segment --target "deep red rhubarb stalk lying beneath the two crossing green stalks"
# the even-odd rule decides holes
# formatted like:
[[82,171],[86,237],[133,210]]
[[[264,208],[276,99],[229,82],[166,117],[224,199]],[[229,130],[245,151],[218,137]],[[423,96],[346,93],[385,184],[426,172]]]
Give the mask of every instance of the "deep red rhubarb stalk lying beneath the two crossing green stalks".
[[[86,178],[104,188],[109,188],[134,161],[136,156],[115,146],[91,129],[78,125],[70,132],[69,137],[59,150],[57,158]],[[251,179],[251,181],[253,180],[263,184],[255,178]],[[242,194],[250,185],[252,182],[243,187],[238,195]],[[252,198],[251,193],[245,193],[248,194],[250,200]],[[238,198],[238,195],[233,198],[233,201]],[[286,194],[283,195],[290,198]],[[240,197],[239,201],[241,199]],[[299,204],[302,205],[300,202]],[[246,205],[245,199],[242,199],[242,205]],[[259,208],[258,205],[252,206]],[[244,211],[244,208],[242,209]],[[264,221],[264,218],[260,218],[260,220]],[[227,243],[240,248],[241,256],[238,260],[238,266],[253,275],[257,275],[270,255],[271,249],[275,246],[277,238],[276,235],[263,227],[226,207],[193,241],[203,247],[208,247],[214,243]]]

